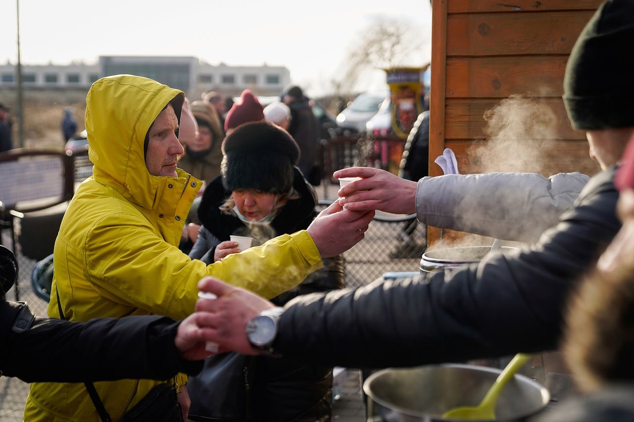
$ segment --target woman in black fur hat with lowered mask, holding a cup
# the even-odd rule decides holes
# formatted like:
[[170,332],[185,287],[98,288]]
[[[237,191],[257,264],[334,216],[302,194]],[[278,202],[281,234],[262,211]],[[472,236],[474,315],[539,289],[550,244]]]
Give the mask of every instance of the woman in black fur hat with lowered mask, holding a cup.
[[[210,182],[198,208],[202,227],[190,257],[207,264],[240,252],[232,234],[253,246],[306,229],[316,216],[316,193],[296,165],[299,148],[270,122],[240,125],[223,143],[221,176]],[[314,291],[344,287],[341,256],[299,286],[273,299],[283,305]],[[248,384],[248,385],[247,385]],[[332,368],[236,353],[215,355],[188,381],[192,420],[319,421],[331,414]]]

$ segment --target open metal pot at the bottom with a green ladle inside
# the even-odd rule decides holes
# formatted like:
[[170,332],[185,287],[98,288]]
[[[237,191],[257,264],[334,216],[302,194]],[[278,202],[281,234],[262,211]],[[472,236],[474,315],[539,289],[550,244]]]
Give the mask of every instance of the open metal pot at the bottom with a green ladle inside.
[[[368,422],[455,421],[442,414],[456,406],[477,406],[500,369],[443,364],[383,369],[363,384]],[[515,375],[504,387],[495,409],[496,421],[524,421],[550,400],[548,390],[525,376]]]

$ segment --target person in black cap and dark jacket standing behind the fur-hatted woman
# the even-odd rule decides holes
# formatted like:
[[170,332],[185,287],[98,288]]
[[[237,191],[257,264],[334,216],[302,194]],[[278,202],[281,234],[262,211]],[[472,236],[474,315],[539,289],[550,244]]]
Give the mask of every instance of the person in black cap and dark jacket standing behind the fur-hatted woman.
[[299,145],[299,169],[313,185],[321,182],[320,170],[316,167],[318,146],[317,120],[308,98],[297,85],[289,85],[283,91],[282,101],[290,108],[288,133]]

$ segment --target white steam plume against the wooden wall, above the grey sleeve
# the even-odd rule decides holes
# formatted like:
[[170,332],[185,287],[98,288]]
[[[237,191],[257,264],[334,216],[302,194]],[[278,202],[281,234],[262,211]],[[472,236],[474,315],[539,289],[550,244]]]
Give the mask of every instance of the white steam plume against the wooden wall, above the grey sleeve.
[[512,95],[484,113],[488,139],[469,148],[469,173],[536,172],[556,137],[557,117],[530,94]]

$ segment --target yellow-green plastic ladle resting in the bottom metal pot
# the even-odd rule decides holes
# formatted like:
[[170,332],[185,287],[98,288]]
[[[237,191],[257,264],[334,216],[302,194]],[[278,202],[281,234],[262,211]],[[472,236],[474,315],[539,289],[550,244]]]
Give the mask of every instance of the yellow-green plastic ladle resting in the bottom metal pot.
[[495,380],[489,391],[482,399],[479,405],[473,406],[460,406],[454,407],[443,413],[443,419],[463,419],[465,421],[495,421],[495,405],[498,402],[498,397],[508,381],[512,380],[518,369],[530,359],[531,355],[518,353],[513,359],[508,362],[506,368],[498,375],[498,379]]

